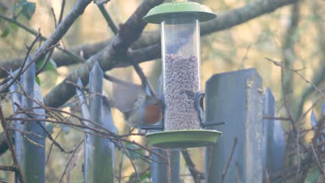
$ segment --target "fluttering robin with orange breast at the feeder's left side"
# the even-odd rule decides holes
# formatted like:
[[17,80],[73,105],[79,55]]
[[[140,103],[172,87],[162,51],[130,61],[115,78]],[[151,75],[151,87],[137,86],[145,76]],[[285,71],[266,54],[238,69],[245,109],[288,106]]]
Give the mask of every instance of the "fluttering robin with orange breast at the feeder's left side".
[[144,85],[113,83],[113,105],[124,114],[126,123],[133,128],[153,125],[163,116],[163,102],[150,94]]

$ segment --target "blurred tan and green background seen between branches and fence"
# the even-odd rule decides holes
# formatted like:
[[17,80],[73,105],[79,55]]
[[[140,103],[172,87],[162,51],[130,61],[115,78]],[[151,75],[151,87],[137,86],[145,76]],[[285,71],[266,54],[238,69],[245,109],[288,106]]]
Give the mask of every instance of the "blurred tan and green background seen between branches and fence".
[[[36,3],[35,14],[28,20],[19,17],[17,21],[29,28],[40,30],[42,35],[48,37],[55,29],[53,21],[53,8],[56,16],[60,12],[61,1],[55,0],[33,0]],[[140,0],[119,0],[110,1],[105,7],[113,17],[115,23],[121,24],[126,21],[140,4]],[[209,6],[217,15],[234,8],[240,8],[249,0],[201,0],[197,1]],[[76,0],[66,1],[64,15],[74,6]],[[12,7],[15,1],[1,1],[0,13],[11,17]],[[292,112],[300,116],[299,109],[305,111],[313,105],[317,99],[315,91],[310,90],[310,84],[305,82],[297,74],[291,71],[284,71],[283,84],[281,84],[281,68],[267,61],[265,58],[285,62],[292,69],[303,69],[299,73],[310,82],[319,81],[317,87],[325,87],[324,64],[325,64],[325,2],[322,0],[299,1],[283,8],[278,8],[274,12],[256,17],[244,24],[228,28],[226,30],[211,33],[201,37],[201,89],[204,91],[205,82],[215,73],[228,71],[237,71],[238,69],[256,68],[263,78],[264,89],[270,87],[276,98],[276,110],[278,116],[286,116],[283,107],[283,91],[289,98]],[[218,18],[218,17],[217,17]],[[24,43],[30,44],[34,35],[27,33],[22,28],[10,26],[12,30],[5,35],[4,30],[10,26],[8,22],[0,19],[0,60],[22,57],[26,53]],[[158,30],[158,25],[149,24],[145,31]],[[1,34],[1,32],[0,32]],[[113,37],[113,33],[108,28],[97,6],[92,3],[81,17],[77,19],[72,28],[63,37],[60,44],[69,49],[69,47],[78,44],[92,44],[102,42]],[[1,62],[1,61],[0,61]],[[74,64],[69,67],[58,67],[57,71],[45,71],[39,75],[42,94],[45,96],[51,89],[60,83],[71,71],[78,68],[80,64]],[[140,64],[140,67],[149,77],[149,80],[156,85],[156,80],[161,71],[161,60],[152,60]],[[108,71],[112,76],[118,76],[124,80],[140,83],[140,79],[133,71],[132,67],[113,69]],[[111,84],[105,81],[104,89],[111,94]],[[309,90],[308,90],[309,89]],[[12,114],[10,103],[3,104],[6,109],[6,115]],[[320,115],[319,103],[315,107],[316,116]],[[66,107],[65,110],[69,110]],[[128,133],[128,128],[124,124],[122,114],[113,110],[115,125],[119,129],[119,134]],[[303,128],[309,129],[310,114],[303,120]],[[288,121],[283,121],[283,128],[288,128]],[[54,134],[58,133],[60,128],[54,128]],[[306,143],[313,137],[313,132],[306,135]],[[55,136],[55,135],[53,135]],[[66,149],[72,149],[81,141],[83,134],[76,130],[66,129],[64,135],[60,135],[58,141]],[[141,143],[147,143],[142,137],[132,137]],[[48,141],[49,142],[49,141]],[[49,143],[50,144],[50,143]],[[231,146],[231,145],[230,145]],[[49,146],[47,146],[49,147]],[[204,148],[190,149],[190,154],[196,164],[196,168],[204,171]],[[119,171],[121,162],[121,153],[116,153],[115,159],[116,171]],[[63,168],[67,164],[70,155],[60,153],[58,148],[53,148],[53,152],[47,164],[47,182],[57,182],[63,173]],[[10,152],[1,155],[0,164],[11,164]],[[140,168],[147,167],[147,162],[141,159],[135,159],[136,165]],[[82,182],[82,164],[83,151],[80,150],[74,158],[74,166],[70,168],[69,182]],[[133,173],[133,168],[127,158],[123,159],[122,175],[126,176]],[[190,182],[192,177],[181,159],[181,179],[183,182]],[[0,171],[0,177],[8,182],[13,182],[12,173]],[[67,180],[65,180],[67,181]]]

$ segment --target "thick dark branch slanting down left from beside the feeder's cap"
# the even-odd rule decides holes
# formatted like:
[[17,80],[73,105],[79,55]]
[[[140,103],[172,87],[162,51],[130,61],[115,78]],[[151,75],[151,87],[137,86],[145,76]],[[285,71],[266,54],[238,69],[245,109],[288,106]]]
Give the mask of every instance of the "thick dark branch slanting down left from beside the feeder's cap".
[[[117,65],[121,64],[122,60],[126,61],[126,64],[131,64],[128,62],[127,49],[135,41],[138,40],[144,26],[146,25],[142,20],[142,17],[147,14],[147,12],[157,6],[163,0],[149,1],[144,0],[140,6],[135,10],[133,15],[126,21],[126,23],[120,26],[119,32],[112,39],[110,44],[106,46],[105,49],[101,50],[99,53],[92,55],[85,64],[78,68],[76,71],[71,73],[63,82],[54,87],[52,91],[45,96],[44,104],[51,107],[58,107],[63,105],[69,98],[74,96],[74,87],[67,85],[67,81],[76,82],[80,77],[83,83],[88,84],[90,69],[94,62],[99,62],[101,69],[103,71],[108,71],[113,69]],[[110,62],[108,62],[110,60]],[[135,62],[138,62],[135,59]],[[60,98],[57,100],[56,98]]]

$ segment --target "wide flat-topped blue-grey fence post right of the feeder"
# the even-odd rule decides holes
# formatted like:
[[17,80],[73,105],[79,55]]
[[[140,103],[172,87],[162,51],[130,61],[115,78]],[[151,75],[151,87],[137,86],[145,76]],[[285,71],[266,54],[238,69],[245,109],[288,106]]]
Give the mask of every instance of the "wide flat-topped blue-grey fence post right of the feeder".
[[238,139],[223,182],[262,182],[262,79],[255,69],[221,73],[206,82],[206,121],[225,121],[206,148],[206,182],[221,182],[233,141]]

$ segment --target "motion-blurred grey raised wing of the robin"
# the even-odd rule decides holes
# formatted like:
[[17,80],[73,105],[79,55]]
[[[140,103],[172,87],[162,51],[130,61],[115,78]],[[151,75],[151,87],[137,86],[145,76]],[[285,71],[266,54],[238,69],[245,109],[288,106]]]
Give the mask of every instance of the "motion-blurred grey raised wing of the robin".
[[113,105],[120,112],[130,112],[143,92],[140,85],[128,83],[127,85],[113,84]]

